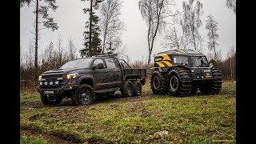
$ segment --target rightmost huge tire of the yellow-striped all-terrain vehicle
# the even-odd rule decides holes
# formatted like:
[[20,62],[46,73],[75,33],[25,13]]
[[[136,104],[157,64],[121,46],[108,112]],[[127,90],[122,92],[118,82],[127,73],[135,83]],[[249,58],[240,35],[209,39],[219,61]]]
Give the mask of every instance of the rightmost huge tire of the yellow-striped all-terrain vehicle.
[[200,86],[201,94],[208,95],[208,94],[219,94],[222,90],[222,72],[217,68],[212,67],[211,73],[213,75],[213,80],[208,82],[202,86]]

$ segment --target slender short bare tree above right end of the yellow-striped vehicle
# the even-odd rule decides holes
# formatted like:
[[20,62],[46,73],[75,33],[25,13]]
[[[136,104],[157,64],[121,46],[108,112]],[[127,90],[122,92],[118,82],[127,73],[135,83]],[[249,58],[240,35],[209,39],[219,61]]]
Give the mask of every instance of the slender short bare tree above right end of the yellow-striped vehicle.
[[214,50],[214,58],[217,58],[217,39],[218,39],[218,34],[217,34],[217,30],[218,30],[218,22],[216,22],[214,20],[214,17],[212,15],[208,16],[208,19],[206,20],[206,30],[208,30],[208,38],[210,40],[210,42],[208,42],[208,49],[209,50]]

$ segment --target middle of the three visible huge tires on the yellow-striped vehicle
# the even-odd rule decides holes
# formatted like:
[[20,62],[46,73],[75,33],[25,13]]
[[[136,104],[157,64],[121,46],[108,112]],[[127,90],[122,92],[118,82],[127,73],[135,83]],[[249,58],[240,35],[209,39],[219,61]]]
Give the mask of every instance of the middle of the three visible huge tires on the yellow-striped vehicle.
[[[192,94],[193,85],[190,70],[183,67],[174,67],[168,74],[168,90],[171,95],[187,96]],[[177,85],[174,85],[175,81],[178,82]]]

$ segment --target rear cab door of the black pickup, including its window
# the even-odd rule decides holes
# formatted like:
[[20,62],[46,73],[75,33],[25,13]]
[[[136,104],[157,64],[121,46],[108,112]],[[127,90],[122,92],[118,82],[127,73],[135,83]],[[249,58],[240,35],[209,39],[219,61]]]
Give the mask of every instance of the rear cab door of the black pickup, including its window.
[[113,58],[105,58],[106,62],[106,69],[108,70],[108,73],[106,74],[107,78],[107,87],[110,88],[116,88],[120,87],[122,85],[122,75],[120,67],[116,62],[114,62]]

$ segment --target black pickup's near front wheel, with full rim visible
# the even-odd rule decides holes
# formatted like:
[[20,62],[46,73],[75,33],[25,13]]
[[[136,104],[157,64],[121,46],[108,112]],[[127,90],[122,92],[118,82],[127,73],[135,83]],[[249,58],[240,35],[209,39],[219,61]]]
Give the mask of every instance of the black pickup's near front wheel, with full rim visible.
[[86,84],[79,86],[71,97],[75,106],[90,105],[95,100],[94,89]]

